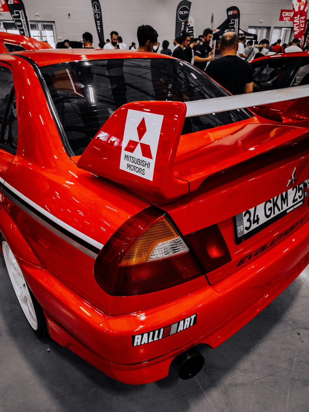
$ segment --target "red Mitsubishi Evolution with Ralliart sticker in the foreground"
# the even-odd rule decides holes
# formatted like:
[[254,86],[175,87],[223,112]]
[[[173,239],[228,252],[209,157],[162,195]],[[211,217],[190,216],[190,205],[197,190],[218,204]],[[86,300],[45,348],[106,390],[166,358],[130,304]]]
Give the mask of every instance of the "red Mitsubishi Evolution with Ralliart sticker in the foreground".
[[2,250],[39,337],[121,382],[174,359],[187,379],[308,264],[306,128],[162,54],[19,52],[0,73]]

